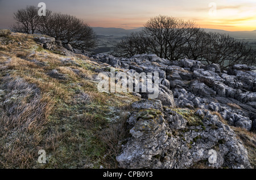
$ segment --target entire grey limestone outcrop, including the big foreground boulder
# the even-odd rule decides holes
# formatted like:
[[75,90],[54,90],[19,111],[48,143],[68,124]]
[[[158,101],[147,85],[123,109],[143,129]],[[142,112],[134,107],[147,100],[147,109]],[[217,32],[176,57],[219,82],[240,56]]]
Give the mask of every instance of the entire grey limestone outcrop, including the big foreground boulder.
[[[213,168],[251,168],[247,150],[232,126],[256,131],[255,67],[182,59],[154,54],[92,58],[124,72],[159,72],[159,97],[134,102],[127,120],[131,138],[117,156],[121,168],[191,168],[203,162]],[[255,142],[254,142],[255,143]],[[216,161],[209,163],[210,151]]]

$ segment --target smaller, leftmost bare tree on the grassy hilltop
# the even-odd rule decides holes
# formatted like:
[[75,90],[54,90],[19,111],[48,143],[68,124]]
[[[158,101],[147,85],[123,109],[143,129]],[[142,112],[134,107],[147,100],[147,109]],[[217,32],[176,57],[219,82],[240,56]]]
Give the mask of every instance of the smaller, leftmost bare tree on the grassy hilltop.
[[12,31],[34,34],[40,19],[38,7],[27,6],[25,9],[14,12],[14,19],[16,23],[11,27]]

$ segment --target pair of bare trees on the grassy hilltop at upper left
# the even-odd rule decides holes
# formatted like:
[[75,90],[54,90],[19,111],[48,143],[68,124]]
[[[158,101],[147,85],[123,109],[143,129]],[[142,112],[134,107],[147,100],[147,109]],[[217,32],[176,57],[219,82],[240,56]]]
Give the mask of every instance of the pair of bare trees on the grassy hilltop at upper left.
[[96,47],[96,33],[81,19],[68,14],[46,10],[46,16],[38,15],[38,7],[27,6],[14,13],[14,32],[42,33],[69,43],[73,48],[90,51]]

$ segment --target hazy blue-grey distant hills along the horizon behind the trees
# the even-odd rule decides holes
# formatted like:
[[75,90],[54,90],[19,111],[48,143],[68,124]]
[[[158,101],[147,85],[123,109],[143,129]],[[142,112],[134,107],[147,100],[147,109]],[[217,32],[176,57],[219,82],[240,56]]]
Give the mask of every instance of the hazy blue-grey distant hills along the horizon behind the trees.
[[[141,31],[142,27],[136,28],[136,29],[93,27],[93,30],[97,33],[97,35],[122,37],[122,36],[129,35],[131,32]],[[206,29],[205,28],[205,31],[227,33],[230,36],[232,36],[234,38],[238,38],[238,39],[256,40],[256,30],[254,30],[254,31],[225,31],[225,30],[221,30],[221,29]]]

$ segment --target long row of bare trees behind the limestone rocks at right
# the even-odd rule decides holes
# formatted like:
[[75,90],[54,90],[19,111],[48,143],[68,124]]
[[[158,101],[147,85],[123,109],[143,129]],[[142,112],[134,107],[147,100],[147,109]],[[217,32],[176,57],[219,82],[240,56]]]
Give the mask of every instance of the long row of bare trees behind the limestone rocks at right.
[[192,21],[159,15],[148,20],[142,31],[119,42],[114,55],[153,53],[171,61],[189,58],[218,63],[225,69],[238,63],[255,64],[256,51],[248,48],[247,43],[227,34],[207,33]]

